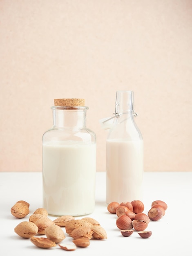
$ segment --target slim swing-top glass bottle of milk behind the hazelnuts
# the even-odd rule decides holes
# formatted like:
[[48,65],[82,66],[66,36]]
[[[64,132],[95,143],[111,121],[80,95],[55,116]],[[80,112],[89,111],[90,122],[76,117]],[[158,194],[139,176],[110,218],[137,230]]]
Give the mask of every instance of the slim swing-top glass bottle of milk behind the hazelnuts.
[[143,138],[134,117],[134,92],[117,91],[106,141],[106,202],[143,199]]

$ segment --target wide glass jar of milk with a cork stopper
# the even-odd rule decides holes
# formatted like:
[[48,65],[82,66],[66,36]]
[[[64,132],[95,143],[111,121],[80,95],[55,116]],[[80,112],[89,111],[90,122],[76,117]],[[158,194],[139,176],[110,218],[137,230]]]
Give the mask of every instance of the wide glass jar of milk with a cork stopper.
[[43,208],[54,216],[94,211],[96,135],[84,99],[55,99],[53,127],[42,136]]

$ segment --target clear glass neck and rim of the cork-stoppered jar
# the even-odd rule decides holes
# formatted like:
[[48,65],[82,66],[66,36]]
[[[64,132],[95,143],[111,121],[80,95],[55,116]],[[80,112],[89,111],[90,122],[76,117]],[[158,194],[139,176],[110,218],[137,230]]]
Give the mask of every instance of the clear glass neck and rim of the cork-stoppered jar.
[[80,129],[86,127],[88,107],[53,106],[53,128]]

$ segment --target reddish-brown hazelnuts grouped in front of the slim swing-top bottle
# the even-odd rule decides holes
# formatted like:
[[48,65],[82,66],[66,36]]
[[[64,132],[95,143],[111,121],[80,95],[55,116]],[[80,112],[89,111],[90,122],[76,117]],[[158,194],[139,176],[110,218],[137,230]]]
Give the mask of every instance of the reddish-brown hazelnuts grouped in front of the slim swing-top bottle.
[[152,231],[146,231],[150,220],[160,220],[167,209],[167,204],[161,200],[153,201],[147,214],[143,213],[144,204],[140,200],[132,202],[111,202],[107,206],[109,213],[116,214],[116,226],[122,236],[130,236],[136,230],[142,238],[149,238]]

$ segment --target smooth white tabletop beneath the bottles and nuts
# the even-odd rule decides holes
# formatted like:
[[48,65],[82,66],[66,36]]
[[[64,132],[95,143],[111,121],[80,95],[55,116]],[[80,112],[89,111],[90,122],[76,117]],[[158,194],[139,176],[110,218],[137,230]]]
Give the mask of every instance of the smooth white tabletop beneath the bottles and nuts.
[[[11,215],[10,209],[18,200],[30,204],[30,213],[22,219]],[[14,228],[42,207],[42,173],[1,172],[0,173],[0,254],[83,255],[83,256],[192,256],[192,172],[145,172],[144,213],[147,214],[154,200],[163,200],[168,208],[159,221],[150,221],[147,230],[152,236],[140,238],[135,231],[130,237],[123,237],[116,227],[116,215],[107,211],[105,203],[105,172],[96,174],[96,207],[89,217],[95,218],[107,232],[105,240],[90,240],[89,247],[77,248],[73,252],[59,246],[41,249],[29,239],[21,238]],[[48,216],[52,220],[53,216]],[[83,218],[83,217],[77,217]],[[65,228],[63,228],[65,232]],[[71,243],[66,233],[63,243]],[[3,254],[2,254],[3,253]],[[6,253],[6,254],[5,254]]]

